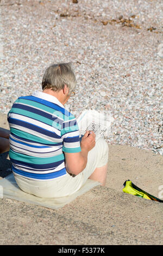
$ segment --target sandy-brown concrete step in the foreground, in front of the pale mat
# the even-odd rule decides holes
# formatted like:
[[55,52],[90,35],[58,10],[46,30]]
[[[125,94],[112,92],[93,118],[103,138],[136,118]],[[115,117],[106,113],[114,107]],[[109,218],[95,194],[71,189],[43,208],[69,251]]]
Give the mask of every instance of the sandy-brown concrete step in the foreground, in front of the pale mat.
[[64,208],[1,199],[1,245],[162,245],[163,204],[98,186]]

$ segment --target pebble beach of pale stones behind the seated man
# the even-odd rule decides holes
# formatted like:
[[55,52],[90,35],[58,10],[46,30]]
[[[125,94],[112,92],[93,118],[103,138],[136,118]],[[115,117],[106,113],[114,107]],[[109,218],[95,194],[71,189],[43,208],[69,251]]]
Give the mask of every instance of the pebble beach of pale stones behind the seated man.
[[114,117],[110,144],[163,155],[163,3],[120,0],[1,0],[0,111],[41,90],[46,68],[72,62],[76,117]]

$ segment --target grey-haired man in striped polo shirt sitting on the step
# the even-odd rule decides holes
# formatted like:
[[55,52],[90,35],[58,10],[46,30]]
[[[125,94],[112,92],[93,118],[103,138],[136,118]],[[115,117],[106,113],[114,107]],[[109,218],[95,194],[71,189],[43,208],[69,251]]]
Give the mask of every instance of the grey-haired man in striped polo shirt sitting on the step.
[[108,144],[86,131],[81,142],[77,120],[64,105],[76,77],[70,63],[49,66],[42,92],[19,97],[8,113],[10,151],[17,185],[42,198],[68,196],[87,179],[106,182]]

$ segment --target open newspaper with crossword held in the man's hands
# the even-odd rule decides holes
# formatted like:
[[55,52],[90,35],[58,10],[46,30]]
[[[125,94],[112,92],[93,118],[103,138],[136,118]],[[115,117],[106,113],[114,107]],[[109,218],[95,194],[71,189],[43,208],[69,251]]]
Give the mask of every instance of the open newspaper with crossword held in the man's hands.
[[96,134],[96,141],[109,135],[111,123],[114,118],[105,113],[96,110],[85,110],[77,118],[80,138],[83,137],[87,130],[91,130]]

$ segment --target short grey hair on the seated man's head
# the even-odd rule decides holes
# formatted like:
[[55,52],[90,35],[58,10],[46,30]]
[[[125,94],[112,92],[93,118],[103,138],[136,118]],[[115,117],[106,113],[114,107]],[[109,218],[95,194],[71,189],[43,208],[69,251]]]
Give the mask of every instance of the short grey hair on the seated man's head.
[[59,63],[49,66],[42,79],[42,90],[52,89],[55,92],[64,88],[65,84],[69,88],[69,93],[76,88],[77,81],[70,63]]

